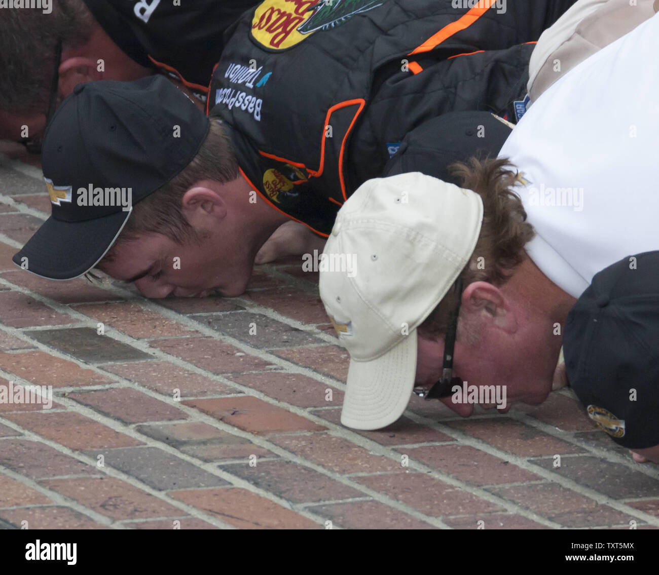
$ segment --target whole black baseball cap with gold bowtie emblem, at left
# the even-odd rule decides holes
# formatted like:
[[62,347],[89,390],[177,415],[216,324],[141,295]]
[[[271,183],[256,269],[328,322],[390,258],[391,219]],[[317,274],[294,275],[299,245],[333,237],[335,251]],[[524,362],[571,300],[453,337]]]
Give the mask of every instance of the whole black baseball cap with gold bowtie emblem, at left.
[[132,205],[192,161],[209,126],[163,76],[78,84],[43,140],[51,216],[14,263],[49,279],[73,279],[92,269],[119,236]]

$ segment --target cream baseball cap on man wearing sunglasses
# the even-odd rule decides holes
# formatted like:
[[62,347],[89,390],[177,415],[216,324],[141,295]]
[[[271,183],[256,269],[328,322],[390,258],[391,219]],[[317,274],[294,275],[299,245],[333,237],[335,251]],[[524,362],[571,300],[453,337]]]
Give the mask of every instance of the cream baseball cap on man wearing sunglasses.
[[418,172],[368,180],[341,207],[319,269],[350,353],[343,425],[380,429],[403,414],[416,328],[469,262],[482,217],[478,194]]

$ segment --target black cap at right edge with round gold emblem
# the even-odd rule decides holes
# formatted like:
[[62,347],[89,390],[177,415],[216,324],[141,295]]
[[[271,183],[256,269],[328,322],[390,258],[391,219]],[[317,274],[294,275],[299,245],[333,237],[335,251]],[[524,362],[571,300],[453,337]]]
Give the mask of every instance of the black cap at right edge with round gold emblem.
[[659,252],[595,275],[567,316],[563,354],[598,427],[629,449],[659,445]]

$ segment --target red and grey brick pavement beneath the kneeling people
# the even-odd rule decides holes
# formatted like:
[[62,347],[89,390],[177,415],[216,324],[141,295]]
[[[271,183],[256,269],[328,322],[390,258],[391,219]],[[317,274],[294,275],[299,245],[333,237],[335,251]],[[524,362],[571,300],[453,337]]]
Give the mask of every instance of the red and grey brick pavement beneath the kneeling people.
[[397,424],[352,431],[348,356],[301,261],[259,267],[231,299],[45,281],[11,256],[48,205],[38,169],[0,156],[0,385],[54,395],[0,404],[0,524],[659,527],[658,468],[569,390],[469,420],[413,398]]

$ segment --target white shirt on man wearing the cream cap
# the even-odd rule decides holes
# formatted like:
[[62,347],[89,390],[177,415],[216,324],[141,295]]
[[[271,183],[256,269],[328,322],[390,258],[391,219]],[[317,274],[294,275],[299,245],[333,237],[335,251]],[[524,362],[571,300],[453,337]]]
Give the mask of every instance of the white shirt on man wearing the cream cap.
[[608,265],[659,250],[659,14],[544,92],[500,157],[528,182],[530,258],[574,297]]

